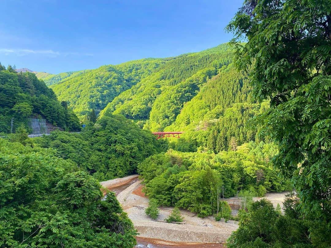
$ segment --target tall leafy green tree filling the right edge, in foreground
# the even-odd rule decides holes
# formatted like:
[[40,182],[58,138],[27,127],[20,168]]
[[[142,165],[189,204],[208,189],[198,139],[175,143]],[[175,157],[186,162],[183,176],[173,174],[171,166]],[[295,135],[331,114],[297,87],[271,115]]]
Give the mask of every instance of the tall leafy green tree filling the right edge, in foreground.
[[292,178],[300,216],[318,220],[330,245],[331,1],[245,1],[228,30],[255,97],[270,99],[260,135],[279,145],[274,163]]

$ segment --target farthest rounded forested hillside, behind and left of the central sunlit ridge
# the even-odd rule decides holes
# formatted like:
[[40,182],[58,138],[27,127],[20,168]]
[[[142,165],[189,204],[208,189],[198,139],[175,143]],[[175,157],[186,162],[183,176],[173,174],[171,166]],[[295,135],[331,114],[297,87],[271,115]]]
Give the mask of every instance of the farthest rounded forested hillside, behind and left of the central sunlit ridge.
[[92,109],[100,112],[107,103],[151,74],[162,62],[144,59],[104,65],[94,70],[61,73],[45,80],[59,100],[68,101],[78,117],[83,119]]

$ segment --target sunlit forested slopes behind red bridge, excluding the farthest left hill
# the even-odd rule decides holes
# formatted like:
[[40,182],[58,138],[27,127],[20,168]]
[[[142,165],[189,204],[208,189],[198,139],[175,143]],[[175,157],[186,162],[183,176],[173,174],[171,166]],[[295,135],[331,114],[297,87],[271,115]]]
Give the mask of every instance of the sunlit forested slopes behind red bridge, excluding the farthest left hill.
[[256,104],[245,73],[232,63],[228,44],[175,57],[116,97],[100,113],[119,113],[151,131],[183,131],[173,148],[227,150],[254,141],[248,120],[268,108]]

